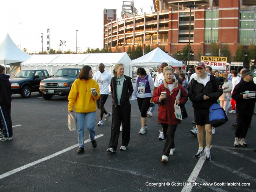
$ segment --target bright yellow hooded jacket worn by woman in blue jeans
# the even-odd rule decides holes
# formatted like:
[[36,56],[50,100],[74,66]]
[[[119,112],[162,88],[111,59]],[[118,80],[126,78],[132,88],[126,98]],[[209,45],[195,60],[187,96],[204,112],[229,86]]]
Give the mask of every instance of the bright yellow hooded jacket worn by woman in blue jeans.
[[[96,97],[91,94],[91,88],[96,89]],[[68,111],[73,111],[75,106],[74,110],[78,113],[95,112],[97,110],[96,100],[99,97],[99,85],[95,80],[76,79],[68,95]]]

